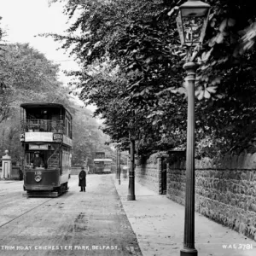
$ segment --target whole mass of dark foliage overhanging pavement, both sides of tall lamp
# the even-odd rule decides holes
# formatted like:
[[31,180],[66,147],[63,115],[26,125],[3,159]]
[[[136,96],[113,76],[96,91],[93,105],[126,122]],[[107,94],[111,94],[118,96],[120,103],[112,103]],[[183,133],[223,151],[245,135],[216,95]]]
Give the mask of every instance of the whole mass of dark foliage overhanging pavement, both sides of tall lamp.
[[[56,2],[52,1],[52,2]],[[141,154],[185,147],[186,90],[177,6],[185,1],[67,0],[74,22],[63,49],[77,57],[80,97],[95,103],[115,142],[137,139]],[[255,151],[253,0],[208,0],[205,42],[197,49],[196,141],[199,155]]]

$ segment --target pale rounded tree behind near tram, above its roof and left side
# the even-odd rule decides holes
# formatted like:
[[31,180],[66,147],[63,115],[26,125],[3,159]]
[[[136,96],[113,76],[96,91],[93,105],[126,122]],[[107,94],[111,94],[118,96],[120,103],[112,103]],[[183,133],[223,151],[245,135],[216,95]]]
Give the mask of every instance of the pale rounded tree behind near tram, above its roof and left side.
[[20,147],[21,102],[67,102],[67,90],[57,82],[58,67],[28,44],[6,44],[0,77],[0,149],[9,149],[15,161],[22,157]]

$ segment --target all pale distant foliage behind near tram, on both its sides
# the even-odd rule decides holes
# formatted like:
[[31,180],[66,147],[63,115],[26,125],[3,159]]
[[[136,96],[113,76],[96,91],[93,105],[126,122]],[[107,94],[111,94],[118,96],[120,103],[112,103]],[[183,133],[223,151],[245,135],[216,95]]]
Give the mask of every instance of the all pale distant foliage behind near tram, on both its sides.
[[[29,44],[6,44],[4,47],[0,77],[5,87],[1,103],[6,103],[8,112],[1,111],[4,119],[0,119],[0,152],[3,154],[9,149],[16,162],[20,163],[23,157],[20,103],[24,102],[58,102],[70,110],[73,114],[73,164],[83,164],[86,157],[91,160],[96,149],[93,145],[103,145],[101,132],[90,117],[90,111],[71,100],[68,88],[58,81],[58,72],[57,65]],[[81,137],[90,137],[90,142]]]

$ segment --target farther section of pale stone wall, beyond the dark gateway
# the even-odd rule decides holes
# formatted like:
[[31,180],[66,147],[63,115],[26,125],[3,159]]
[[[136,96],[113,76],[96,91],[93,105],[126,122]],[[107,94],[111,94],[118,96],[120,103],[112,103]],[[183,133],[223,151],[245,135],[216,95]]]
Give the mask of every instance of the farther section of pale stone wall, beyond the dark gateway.
[[152,154],[144,163],[136,161],[135,179],[137,183],[161,193],[161,161],[157,154]]

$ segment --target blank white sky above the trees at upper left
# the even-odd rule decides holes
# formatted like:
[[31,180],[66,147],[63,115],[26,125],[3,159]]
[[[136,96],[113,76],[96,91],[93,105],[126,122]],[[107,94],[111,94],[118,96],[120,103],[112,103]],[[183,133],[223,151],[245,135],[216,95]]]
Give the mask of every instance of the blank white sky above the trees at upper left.
[[[61,64],[61,69],[78,69],[61,46],[53,38],[35,37],[39,33],[63,33],[67,25],[67,16],[62,14],[62,3],[48,0],[0,0],[1,26],[7,33],[6,43],[29,43],[34,49],[44,53],[47,59]],[[67,84],[69,79],[60,73],[60,80]]]

